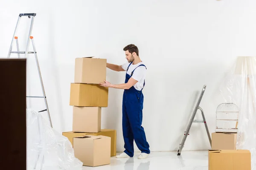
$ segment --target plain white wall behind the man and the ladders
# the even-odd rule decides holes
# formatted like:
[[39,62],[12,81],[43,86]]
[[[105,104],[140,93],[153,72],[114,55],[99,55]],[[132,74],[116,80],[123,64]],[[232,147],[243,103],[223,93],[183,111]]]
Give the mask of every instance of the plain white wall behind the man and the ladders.
[[[255,0],[0,0],[0,56],[7,56],[18,14],[37,13],[32,35],[52,123],[62,132],[72,130],[69,97],[75,58],[96,56],[122,64],[122,48],[136,44],[148,68],[143,127],[150,149],[177,150],[204,84],[201,107],[210,132],[215,130],[212,96],[221,79],[237,56],[256,53],[255,7]],[[26,40],[20,40],[24,47],[22,42]],[[31,55],[29,95],[41,94],[36,71]],[[125,73],[107,71],[112,83],[124,79]],[[44,109],[40,100],[29,100],[29,107]],[[102,127],[117,130],[117,151],[124,144],[121,120],[122,90],[110,89]],[[209,148],[204,125],[193,125],[183,150]]]

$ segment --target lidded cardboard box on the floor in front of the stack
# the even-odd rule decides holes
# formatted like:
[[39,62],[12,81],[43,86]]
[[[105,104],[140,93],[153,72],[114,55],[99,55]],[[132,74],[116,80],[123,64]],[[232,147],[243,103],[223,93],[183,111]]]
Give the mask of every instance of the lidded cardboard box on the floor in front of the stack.
[[84,166],[110,164],[111,138],[108,136],[81,136],[73,138],[75,157]]

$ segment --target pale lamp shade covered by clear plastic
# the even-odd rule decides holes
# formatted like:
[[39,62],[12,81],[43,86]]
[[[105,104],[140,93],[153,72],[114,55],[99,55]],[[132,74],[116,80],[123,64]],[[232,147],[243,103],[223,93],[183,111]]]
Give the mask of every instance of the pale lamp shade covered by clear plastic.
[[256,74],[256,57],[237,57],[235,74]]

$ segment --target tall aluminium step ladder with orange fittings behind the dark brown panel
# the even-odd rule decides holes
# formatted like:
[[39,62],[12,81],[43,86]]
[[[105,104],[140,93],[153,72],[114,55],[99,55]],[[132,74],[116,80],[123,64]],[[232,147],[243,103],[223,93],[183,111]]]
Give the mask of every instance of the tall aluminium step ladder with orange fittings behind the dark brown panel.
[[[35,13],[19,14],[18,21],[17,21],[15,31],[14,31],[14,34],[13,34],[13,37],[12,37],[12,42],[11,42],[11,46],[10,46],[7,58],[10,58],[12,53],[17,54],[18,58],[20,58],[20,54],[25,54],[24,58],[27,57],[27,54],[34,54],[35,55],[35,60],[36,60],[37,68],[38,68],[38,74],[39,74],[39,78],[40,78],[40,82],[41,82],[41,88],[42,88],[42,91],[43,91],[43,96],[26,96],[26,97],[27,98],[28,97],[30,97],[30,98],[44,98],[44,103],[45,103],[46,109],[42,110],[42,111],[39,111],[39,112],[47,111],[49,122],[50,122],[50,125],[52,127],[52,120],[51,120],[51,116],[50,116],[50,113],[49,113],[47,98],[46,98],[45,91],[44,91],[44,83],[43,83],[43,80],[42,80],[41,71],[40,71],[40,67],[39,67],[39,63],[38,63],[38,57],[37,57],[37,52],[36,52],[36,49],[35,49],[34,37],[31,36],[35,16],[36,16]],[[21,17],[28,17],[29,19],[31,19],[30,28],[29,28],[29,35],[28,35],[27,43],[26,43],[26,51],[20,51],[19,43],[18,43],[18,37],[15,36],[16,32],[17,32],[17,28],[18,28],[19,23],[20,23]],[[13,45],[14,40],[16,41],[17,51],[12,51],[12,45]],[[33,51],[28,51],[30,41],[32,42]]]

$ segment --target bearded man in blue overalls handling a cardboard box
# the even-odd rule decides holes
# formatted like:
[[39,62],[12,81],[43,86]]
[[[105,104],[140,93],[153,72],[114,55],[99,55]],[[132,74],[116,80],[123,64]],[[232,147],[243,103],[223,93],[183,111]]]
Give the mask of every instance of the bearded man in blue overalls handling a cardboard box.
[[125,83],[113,85],[104,81],[100,85],[109,88],[124,89],[122,101],[122,131],[125,142],[125,151],[116,158],[128,158],[134,156],[134,140],[141,150],[138,159],[148,157],[150,150],[146,140],[142,124],[143,93],[145,85],[146,66],[140,60],[137,46],[130,44],[124,49],[127,63],[114,65],[107,63],[107,67],[113,71],[126,71]]

